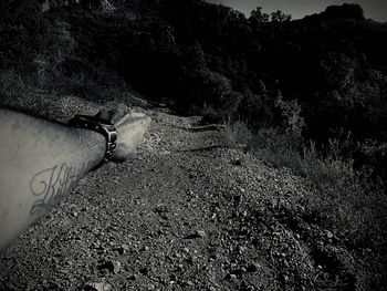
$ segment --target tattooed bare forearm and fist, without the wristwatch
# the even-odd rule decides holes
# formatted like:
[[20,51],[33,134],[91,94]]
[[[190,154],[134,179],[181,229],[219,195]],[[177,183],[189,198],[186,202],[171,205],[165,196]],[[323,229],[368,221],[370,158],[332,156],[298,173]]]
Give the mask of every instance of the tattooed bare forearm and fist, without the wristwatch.
[[[150,118],[104,114],[117,128],[115,160],[129,158]],[[105,143],[96,132],[0,108],[0,249],[50,211],[103,159]]]

